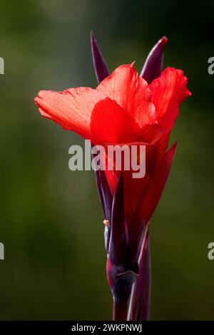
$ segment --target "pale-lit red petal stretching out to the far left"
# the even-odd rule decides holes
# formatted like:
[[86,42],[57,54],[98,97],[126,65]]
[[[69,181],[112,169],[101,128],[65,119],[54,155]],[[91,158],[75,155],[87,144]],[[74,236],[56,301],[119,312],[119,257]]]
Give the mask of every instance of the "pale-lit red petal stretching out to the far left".
[[35,99],[39,111],[66,130],[73,130],[83,138],[90,138],[91,112],[94,105],[105,98],[92,88],[69,88],[63,92],[40,91]]

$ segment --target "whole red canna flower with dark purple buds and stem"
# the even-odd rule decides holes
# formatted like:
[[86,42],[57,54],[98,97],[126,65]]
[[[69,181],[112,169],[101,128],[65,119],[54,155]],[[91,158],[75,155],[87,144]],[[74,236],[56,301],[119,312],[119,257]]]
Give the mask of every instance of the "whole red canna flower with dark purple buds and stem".
[[35,99],[41,115],[91,140],[93,145],[146,145],[145,177],[133,179],[132,171],[124,170],[96,172],[106,219],[107,273],[115,319],[127,319],[130,299],[129,318],[148,319],[145,305],[149,304],[149,292],[143,292],[138,301],[142,285],[149,281],[149,269],[143,272],[149,267],[143,249],[148,253],[148,223],[175,155],[176,144],[168,149],[170,132],[180,103],[191,94],[183,71],[168,67],[161,73],[166,42],[167,38],[158,41],[141,76],[133,63],[119,66],[108,76],[106,62],[92,36],[93,61],[101,81],[97,88],[40,91]]

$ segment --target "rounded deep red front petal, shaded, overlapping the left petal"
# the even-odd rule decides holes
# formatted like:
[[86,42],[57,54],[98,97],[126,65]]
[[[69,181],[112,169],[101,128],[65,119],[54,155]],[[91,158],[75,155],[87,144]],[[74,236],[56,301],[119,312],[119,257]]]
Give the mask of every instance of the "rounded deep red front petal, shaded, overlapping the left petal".
[[99,101],[93,108],[91,140],[94,144],[134,142],[138,130],[131,115],[110,98]]

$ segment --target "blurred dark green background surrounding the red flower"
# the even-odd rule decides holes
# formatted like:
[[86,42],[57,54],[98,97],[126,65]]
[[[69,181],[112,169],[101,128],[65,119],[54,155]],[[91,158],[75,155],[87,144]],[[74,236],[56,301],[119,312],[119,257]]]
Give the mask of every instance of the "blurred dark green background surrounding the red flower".
[[93,172],[68,170],[83,143],[41,118],[41,89],[96,86],[93,29],[111,70],[141,70],[169,38],[165,66],[182,68],[183,103],[168,185],[151,225],[151,319],[214,319],[212,0],[2,0],[0,5],[0,319],[111,319],[103,214]]

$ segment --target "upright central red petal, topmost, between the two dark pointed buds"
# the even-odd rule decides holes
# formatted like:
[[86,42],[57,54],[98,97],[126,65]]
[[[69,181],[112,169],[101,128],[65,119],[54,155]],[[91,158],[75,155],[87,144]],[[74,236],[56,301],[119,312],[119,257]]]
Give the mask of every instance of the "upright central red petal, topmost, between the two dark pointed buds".
[[136,123],[142,127],[154,123],[155,108],[151,102],[151,91],[148,83],[143,80],[131,65],[122,65],[104,79],[97,87],[118,105],[133,116]]

